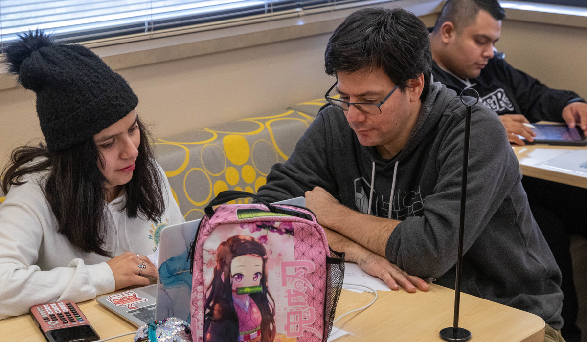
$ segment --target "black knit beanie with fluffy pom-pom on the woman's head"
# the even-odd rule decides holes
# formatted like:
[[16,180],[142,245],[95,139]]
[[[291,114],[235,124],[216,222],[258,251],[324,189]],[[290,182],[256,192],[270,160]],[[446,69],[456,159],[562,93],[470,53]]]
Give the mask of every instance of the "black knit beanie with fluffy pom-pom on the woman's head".
[[11,73],[36,93],[41,130],[50,151],[93,138],[139,103],[122,76],[82,45],[54,43],[29,31],[4,49]]

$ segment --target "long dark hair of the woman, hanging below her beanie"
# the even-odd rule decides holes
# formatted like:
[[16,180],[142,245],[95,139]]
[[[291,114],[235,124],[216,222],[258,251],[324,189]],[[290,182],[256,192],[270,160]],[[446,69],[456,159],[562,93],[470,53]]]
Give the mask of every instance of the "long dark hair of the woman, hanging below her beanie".
[[[165,211],[161,176],[154,164],[151,135],[137,119],[141,143],[131,180],[124,184],[129,218],[141,216],[157,221]],[[35,160],[41,158],[41,160]],[[44,172],[43,194],[57,218],[57,231],[83,252],[112,257],[114,251],[104,249],[106,242],[106,178],[98,163],[103,162],[93,138],[60,151],[49,151],[43,144],[21,146],[12,151],[11,161],[2,171],[2,191],[21,185],[28,174]]]

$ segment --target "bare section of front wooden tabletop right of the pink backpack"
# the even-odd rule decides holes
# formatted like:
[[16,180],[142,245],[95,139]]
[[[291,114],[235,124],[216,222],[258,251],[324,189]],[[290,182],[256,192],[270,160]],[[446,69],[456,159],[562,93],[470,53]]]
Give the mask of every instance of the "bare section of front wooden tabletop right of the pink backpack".
[[[429,292],[379,291],[368,309],[343,317],[335,326],[353,335],[335,342],[443,341],[440,330],[453,326],[454,290],[431,285]],[[373,300],[372,293],[343,290],[336,316]],[[512,307],[461,293],[459,326],[471,331],[471,342],[543,342],[540,317]]]

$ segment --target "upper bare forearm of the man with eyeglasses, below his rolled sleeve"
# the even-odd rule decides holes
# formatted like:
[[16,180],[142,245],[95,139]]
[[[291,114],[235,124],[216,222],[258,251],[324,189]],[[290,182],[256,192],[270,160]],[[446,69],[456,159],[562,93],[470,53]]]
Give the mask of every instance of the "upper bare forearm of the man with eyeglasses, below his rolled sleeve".
[[401,222],[362,214],[341,204],[332,205],[326,215],[317,218],[322,226],[329,227],[350,242],[358,243],[384,258],[387,240]]

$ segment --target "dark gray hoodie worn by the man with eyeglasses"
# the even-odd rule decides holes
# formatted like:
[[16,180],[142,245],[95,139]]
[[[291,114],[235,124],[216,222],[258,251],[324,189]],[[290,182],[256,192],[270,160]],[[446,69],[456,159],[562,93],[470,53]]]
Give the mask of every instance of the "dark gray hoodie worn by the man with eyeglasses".
[[[383,160],[359,144],[342,111],[327,107],[288,161],[274,165],[258,195],[274,202],[322,187],[355,211],[400,220],[387,260],[454,289],[465,110],[453,90],[432,83],[405,147]],[[561,272],[521,178],[497,114],[474,106],[461,289],[561,329]]]

